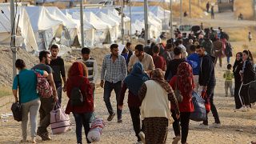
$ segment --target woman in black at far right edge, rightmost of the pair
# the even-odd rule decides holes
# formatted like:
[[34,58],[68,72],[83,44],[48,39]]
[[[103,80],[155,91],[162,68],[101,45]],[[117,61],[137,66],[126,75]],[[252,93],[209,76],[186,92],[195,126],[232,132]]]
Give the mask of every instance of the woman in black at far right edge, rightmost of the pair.
[[242,51],[242,70],[240,70],[242,86],[239,90],[239,98],[242,103],[243,112],[250,111],[250,96],[248,93],[250,82],[255,81],[254,58],[250,50]]

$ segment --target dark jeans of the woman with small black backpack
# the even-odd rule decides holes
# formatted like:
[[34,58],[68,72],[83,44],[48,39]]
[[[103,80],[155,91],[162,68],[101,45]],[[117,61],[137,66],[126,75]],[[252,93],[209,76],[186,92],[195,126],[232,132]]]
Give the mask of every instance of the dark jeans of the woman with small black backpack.
[[89,133],[89,130],[90,130],[90,117],[92,115],[92,112],[82,113],[82,114],[73,113],[73,115],[75,120],[75,134],[77,135],[77,142],[82,143],[82,126],[83,126],[86,133],[86,141],[87,143],[91,143],[87,138],[87,134]]

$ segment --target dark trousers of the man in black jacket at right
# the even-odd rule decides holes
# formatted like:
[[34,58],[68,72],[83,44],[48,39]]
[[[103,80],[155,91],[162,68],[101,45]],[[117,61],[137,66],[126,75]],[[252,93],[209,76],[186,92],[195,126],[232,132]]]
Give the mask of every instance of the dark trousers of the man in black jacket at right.
[[[214,105],[214,87],[215,86],[207,86],[207,90],[206,90],[207,102],[210,102],[210,111],[214,116],[214,122],[215,123],[220,123],[220,120],[218,118],[218,111],[217,111],[217,109]],[[206,113],[207,113],[206,114],[206,121],[202,122],[204,125],[208,125],[208,113],[209,113],[209,111],[208,112],[206,111]]]

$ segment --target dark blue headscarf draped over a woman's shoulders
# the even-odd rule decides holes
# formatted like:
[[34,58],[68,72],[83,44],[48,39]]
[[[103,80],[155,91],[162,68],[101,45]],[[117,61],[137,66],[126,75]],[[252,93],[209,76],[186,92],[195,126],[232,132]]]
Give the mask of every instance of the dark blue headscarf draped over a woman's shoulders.
[[124,82],[132,94],[138,95],[138,90],[140,90],[142,84],[149,79],[149,76],[144,73],[142,63],[136,62]]

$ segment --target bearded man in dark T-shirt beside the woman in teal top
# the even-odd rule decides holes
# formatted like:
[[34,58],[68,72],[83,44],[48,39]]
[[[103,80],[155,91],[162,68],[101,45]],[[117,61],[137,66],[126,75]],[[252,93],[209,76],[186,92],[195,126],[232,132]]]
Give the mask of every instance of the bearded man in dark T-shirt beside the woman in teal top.
[[38,136],[42,138],[42,141],[47,141],[51,140],[49,137],[49,133],[47,130],[47,127],[50,126],[50,111],[53,110],[55,102],[58,102],[58,94],[56,91],[56,87],[54,84],[54,77],[53,77],[53,70],[51,69],[50,66],[50,52],[48,51],[41,51],[39,53],[39,60],[40,63],[32,68],[32,70],[45,70],[47,71],[48,75],[48,80],[50,82],[50,86],[53,90],[53,96],[50,98],[42,98],[40,97],[41,100],[41,106],[39,109],[39,114],[40,114],[40,122],[38,126]]

